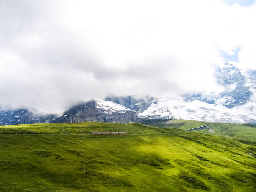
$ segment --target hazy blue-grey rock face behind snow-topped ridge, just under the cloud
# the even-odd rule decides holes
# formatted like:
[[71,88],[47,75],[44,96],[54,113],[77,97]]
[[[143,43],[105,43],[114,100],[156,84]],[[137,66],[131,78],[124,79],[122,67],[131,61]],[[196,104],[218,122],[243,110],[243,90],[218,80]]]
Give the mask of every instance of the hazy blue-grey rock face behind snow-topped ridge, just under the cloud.
[[153,100],[154,100],[153,97],[148,97],[148,96],[141,99],[136,99],[131,96],[127,96],[127,97],[108,96],[105,98],[105,101],[113,101],[131,110],[135,110],[138,113],[142,113],[143,111],[147,110],[147,108],[153,103]]

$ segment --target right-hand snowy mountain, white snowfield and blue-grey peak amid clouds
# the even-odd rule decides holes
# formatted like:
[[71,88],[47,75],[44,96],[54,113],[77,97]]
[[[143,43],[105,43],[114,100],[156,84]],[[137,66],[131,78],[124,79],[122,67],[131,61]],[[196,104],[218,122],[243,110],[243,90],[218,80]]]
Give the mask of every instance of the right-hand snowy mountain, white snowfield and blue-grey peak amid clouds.
[[[155,98],[140,118],[175,118],[225,123],[256,123],[256,70],[242,71],[226,62],[217,66],[216,82],[224,91],[214,95],[201,93],[182,97]],[[247,104],[251,114],[239,110]],[[250,112],[249,110],[249,112]]]

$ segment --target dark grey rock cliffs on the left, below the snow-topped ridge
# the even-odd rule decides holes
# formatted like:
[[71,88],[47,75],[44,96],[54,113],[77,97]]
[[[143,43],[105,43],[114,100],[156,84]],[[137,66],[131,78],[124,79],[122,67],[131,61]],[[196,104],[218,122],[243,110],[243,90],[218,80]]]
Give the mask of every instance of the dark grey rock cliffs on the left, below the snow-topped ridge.
[[[115,107],[115,106],[114,106]],[[63,115],[41,115],[33,114],[27,109],[8,110],[0,112],[1,125],[17,125],[32,123],[77,123],[85,121],[128,123],[137,122],[136,111],[117,109],[108,110],[108,107],[99,106],[95,100],[79,103],[65,111]]]

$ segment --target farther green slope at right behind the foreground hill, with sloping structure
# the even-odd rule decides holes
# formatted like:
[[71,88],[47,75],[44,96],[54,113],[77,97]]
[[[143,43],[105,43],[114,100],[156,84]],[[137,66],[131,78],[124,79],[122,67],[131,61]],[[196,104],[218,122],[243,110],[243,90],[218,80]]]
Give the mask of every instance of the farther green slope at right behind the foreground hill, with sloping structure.
[[236,124],[236,123],[212,123],[192,120],[144,120],[142,123],[158,126],[172,127],[182,130],[210,125],[207,129],[194,130],[194,132],[207,133],[218,136],[225,136],[239,140],[243,143],[256,144],[256,124]]

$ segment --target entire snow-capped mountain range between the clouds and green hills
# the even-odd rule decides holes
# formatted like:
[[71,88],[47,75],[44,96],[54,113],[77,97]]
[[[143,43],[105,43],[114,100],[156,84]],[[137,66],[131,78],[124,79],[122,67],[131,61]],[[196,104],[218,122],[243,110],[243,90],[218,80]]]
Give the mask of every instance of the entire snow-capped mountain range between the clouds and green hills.
[[256,70],[240,70],[226,62],[217,66],[216,82],[224,91],[180,97],[117,97],[93,99],[61,115],[36,115],[27,109],[0,109],[1,125],[22,123],[73,123],[82,121],[140,122],[140,118],[174,118],[225,123],[256,123]]

